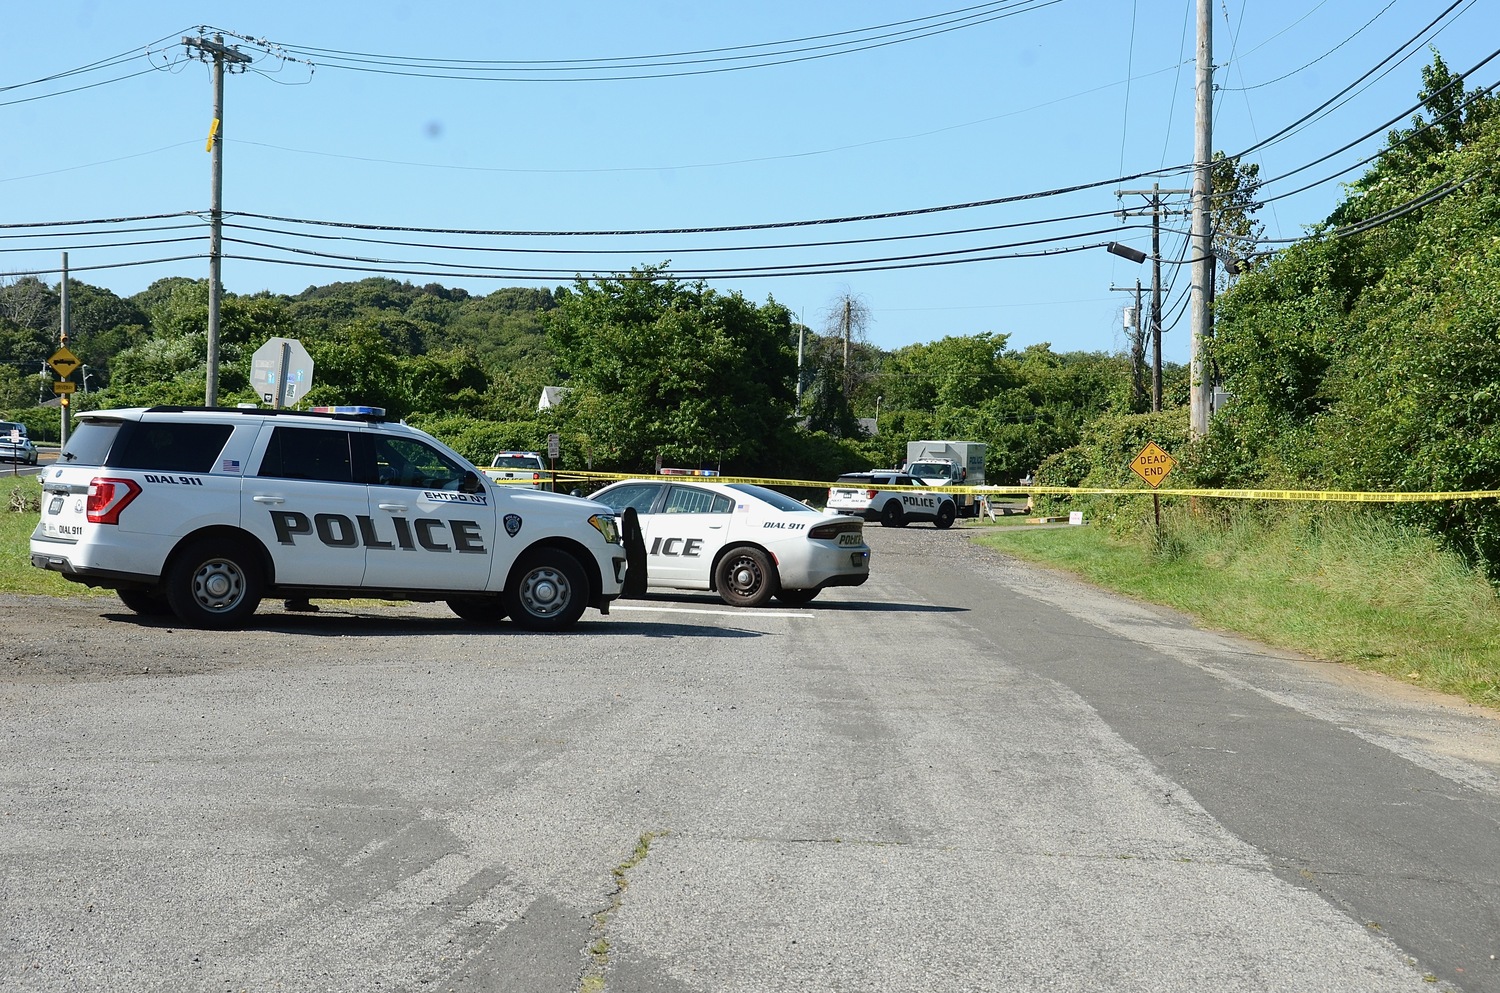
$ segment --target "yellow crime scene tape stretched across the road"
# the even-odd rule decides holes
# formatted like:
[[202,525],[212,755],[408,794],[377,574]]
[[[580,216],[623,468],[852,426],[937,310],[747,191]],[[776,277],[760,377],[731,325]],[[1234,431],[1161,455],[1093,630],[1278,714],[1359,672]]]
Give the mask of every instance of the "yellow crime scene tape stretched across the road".
[[[824,480],[784,480],[760,476],[699,476],[682,472],[586,472],[580,470],[558,470],[556,480],[562,483],[614,483],[632,478],[660,480],[698,480],[704,483],[753,483],[770,488],[796,489],[831,489],[852,488],[864,489],[856,483],[830,483]],[[494,480],[498,484],[536,486],[537,480]],[[544,477],[543,483],[550,482]],[[1107,486],[880,486],[879,489],[909,489],[932,490],[940,489],[945,494],[974,494],[976,496],[1203,496],[1215,500],[1280,500],[1308,502],[1347,502],[1347,504],[1420,504],[1446,502],[1454,500],[1500,500],[1500,489],[1461,489],[1443,492],[1359,492],[1334,489],[1149,489],[1140,488],[1107,488]]]

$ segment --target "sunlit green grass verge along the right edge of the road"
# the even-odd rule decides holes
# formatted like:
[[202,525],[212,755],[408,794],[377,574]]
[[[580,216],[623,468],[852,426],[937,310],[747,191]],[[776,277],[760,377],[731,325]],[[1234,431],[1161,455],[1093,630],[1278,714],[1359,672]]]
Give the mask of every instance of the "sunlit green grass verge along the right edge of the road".
[[1286,506],[1212,519],[994,531],[1017,558],[1176,608],[1278,648],[1500,708],[1500,600],[1430,536],[1377,514]]

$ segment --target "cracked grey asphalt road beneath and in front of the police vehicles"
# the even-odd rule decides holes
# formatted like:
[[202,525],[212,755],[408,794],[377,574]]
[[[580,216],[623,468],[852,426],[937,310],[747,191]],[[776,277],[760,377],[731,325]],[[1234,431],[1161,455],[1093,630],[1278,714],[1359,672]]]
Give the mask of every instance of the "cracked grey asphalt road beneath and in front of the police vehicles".
[[0,597],[0,988],[1500,992],[1492,714],[868,537],[555,636]]

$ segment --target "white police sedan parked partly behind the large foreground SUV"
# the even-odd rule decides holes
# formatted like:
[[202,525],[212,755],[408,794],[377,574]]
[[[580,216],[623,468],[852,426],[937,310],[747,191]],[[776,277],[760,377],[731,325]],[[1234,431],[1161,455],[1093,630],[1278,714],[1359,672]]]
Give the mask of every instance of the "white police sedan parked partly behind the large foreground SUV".
[[590,500],[636,512],[651,588],[712,590],[730,606],[754,608],[771,597],[807,603],[870,578],[864,520],[764,486],[633,478]]

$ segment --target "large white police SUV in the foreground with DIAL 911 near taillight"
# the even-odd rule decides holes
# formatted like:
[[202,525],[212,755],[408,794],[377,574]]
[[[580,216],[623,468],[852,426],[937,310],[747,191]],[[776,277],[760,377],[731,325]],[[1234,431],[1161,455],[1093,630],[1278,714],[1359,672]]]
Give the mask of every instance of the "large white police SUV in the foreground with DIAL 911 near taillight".
[[608,614],[626,560],[609,507],[496,486],[362,406],[78,414],[32,534],[33,566],[206,628],[274,596],[441,600],[558,630]]

